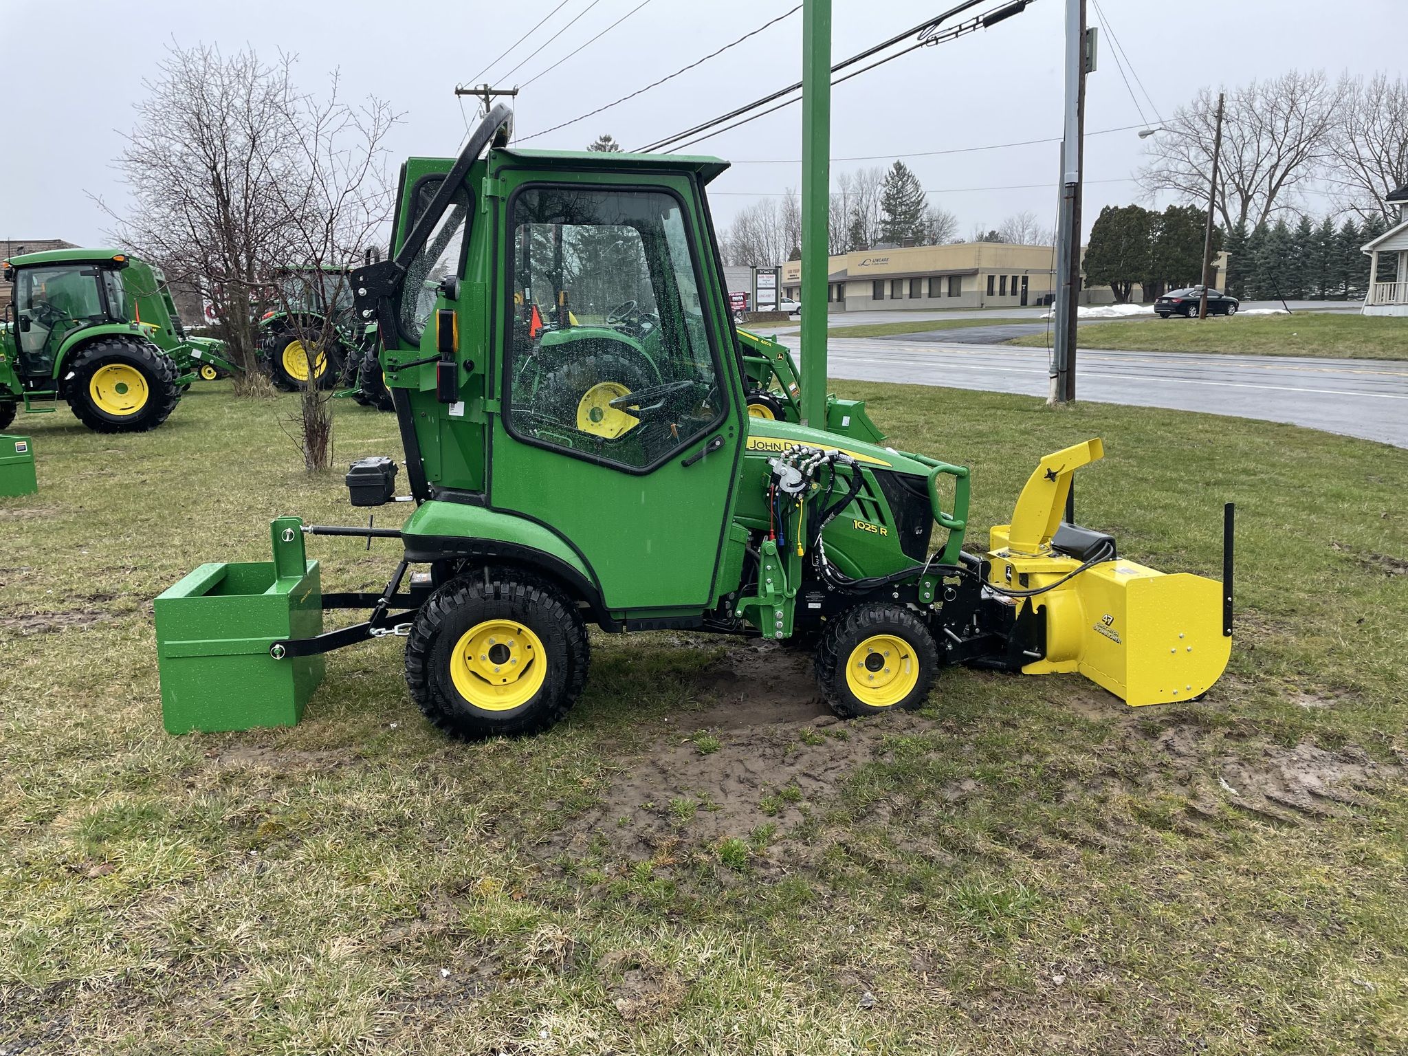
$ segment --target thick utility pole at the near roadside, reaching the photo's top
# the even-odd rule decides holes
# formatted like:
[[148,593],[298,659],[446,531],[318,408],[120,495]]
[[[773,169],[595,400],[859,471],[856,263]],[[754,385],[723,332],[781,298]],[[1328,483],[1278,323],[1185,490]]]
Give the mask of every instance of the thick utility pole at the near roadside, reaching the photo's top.
[[1066,0],[1066,128],[1062,139],[1060,221],[1056,228],[1056,331],[1052,403],[1076,398],[1076,315],[1080,298],[1080,199],[1086,138],[1086,73],[1094,69],[1086,0]]

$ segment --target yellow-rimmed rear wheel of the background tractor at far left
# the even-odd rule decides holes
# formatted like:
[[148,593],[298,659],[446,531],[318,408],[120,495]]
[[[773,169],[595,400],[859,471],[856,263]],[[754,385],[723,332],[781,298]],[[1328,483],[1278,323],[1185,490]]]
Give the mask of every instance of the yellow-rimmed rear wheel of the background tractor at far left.
[[94,432],[146,432],[176,410],[176,365],[146,341],[96,338],[69,363],[65,398]]

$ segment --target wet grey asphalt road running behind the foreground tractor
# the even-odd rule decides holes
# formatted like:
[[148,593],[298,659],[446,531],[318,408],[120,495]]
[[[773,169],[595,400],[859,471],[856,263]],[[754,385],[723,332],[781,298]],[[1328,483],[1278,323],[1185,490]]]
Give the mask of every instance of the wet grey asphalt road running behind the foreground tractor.
[[[797,352],[798,338],[780,338]],[[828,373],[1046,397],[1048,352],[1010,345],[832,338]],[[1408,448],[1408,363],[1081,349],[1077,396],[1290,422]]]

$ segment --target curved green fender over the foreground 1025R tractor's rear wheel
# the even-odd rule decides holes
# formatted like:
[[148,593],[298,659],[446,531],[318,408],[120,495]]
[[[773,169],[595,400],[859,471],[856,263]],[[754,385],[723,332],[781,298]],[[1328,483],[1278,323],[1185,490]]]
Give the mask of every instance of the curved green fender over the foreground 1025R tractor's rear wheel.
[[431,500],[401,525],[401,538],[411,560],[444,553],[536,565],[566,580],[594,608],[603,608],[601,586],[582,556],[546,525],[517,514]]

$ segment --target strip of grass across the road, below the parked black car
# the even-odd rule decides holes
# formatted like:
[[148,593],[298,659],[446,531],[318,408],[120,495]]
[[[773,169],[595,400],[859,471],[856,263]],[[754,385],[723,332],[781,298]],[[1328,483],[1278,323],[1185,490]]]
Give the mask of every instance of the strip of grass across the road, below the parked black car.
[[[1007,344],[1045,348],[1048,338],[1033,334]],[[1129,352],[1408,359],[1408,318],[1298,311],[1294,315],[1214,315],[1207,320],[1118,320],[1081,327],[1080,346]]]

